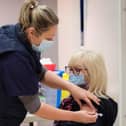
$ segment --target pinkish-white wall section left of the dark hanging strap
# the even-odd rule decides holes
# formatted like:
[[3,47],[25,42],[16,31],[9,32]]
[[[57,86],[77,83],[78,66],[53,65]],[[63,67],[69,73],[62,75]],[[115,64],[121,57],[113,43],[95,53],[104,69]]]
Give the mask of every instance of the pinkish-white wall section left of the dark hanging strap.
[[80,46],[79,0],[58,0],[58,49],[59,68],[68,63],[72,53]]

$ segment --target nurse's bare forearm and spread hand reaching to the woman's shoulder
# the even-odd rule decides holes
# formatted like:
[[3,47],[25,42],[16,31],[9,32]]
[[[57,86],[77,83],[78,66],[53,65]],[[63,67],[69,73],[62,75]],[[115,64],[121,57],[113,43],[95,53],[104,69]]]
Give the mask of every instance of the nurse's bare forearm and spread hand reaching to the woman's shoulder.
[[80,100],[84,100],[92,109],[94,109],[94,106],[92,105],[91,100],[96,104],[99,104],[99,99],[95,95],[85,89],[76,86],[73,83],[70,83],[69,81],[63,80],[52,71],[45,72],[42,83],[52,88],[68,90],[80,105]]

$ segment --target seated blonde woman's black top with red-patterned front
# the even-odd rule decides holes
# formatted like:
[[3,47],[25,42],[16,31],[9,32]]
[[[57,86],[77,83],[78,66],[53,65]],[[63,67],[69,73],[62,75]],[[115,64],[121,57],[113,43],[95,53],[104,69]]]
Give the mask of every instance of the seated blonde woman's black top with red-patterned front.
[[[100,98],[100,105],[94,104],[98,113],[102,113],[102,117],[98,117],[96,123],[83,124],[69,121],[54,121],[54,126],[113,126],[117,116],[117,103],[112,98]],[[70,96],[64,99],[60,105],[61,109],[78,111],[80,110],[77,102]]]

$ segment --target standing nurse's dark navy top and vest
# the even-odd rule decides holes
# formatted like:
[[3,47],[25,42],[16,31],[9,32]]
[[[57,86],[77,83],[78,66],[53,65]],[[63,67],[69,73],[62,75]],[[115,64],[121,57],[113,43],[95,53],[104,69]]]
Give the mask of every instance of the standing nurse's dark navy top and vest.
[[27,110],[19,96],[38,93],[45,69],[20,25],[0,28],[0,126],[19,126]]

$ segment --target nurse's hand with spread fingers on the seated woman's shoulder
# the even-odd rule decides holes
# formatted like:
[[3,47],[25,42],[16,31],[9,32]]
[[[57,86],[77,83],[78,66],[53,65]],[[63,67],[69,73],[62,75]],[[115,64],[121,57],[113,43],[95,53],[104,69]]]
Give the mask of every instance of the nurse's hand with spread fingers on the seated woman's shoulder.
[[95,108],[91,101],[95,102],[97,105],[100,104],[100,99],[98,99],[94,94],[76,85],[73,85],[69,91],[71,92],[76,102],[80,105],[80,107],[82,106],[81,100],[85,101],[87,105],[89,105],[94,111]]

